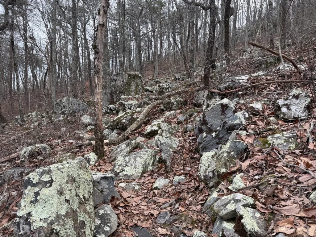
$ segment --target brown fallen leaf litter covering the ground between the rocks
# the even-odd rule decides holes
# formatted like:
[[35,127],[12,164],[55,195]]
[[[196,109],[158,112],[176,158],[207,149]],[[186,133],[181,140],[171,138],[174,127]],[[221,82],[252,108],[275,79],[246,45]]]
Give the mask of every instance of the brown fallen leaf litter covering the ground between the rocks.
[[[314,49],[315,50],[315,49]],[[304,76],[298,75],[295,70],[287,71],[288,80],[302,80],[300,83],[274,83],[258,87],[241,90],[234,94],[224,96],[229,100],[239,99],[238,110],[246,110],[251,115],[251,121],[245,125],[248,132],[246,136],[239,139],[248,145],[248,152],[244,157],[236,161],[236,166],[231,167],[227,178],[222,179],[220,184],[220,195],[226,196],[233,193],[228,189],[230,185],[229,176],[233,173],[245,173],[243,182],[246,187],[240,193],[253,197],[256,200],[257,210],[264,216],[268,223],[268,236],[282,232],[288,236],[316,236],[316,206],[309,199],[309,195],[315,190],[316,179],[310,173],[304,171],[308,169],[316,174],[316,108],[314,76],[312,71],[315,62],[310,56],[305,59],[308,66]],[[240,69],[240,64],[232,64],[226,73],[235,75],[250,74],[258,70],[253,64]],[[253,77],[249,84],[258,82],[283,80],[283,71],[269,70],[270,76]],[[149,80],[149,79],[148,79]],[[214,85],[217,82],[214,82]],[[281,119],[270,120],[275,116],[274,103],[276,100],[288,94],[294,88],[301,88],[310,94],[312,103],[310,107],[311,116],[306,120],[284,121]],[[193,108],[194,94],[182,95],[188,102],[185,110]],[[255,101],[265,101],[264,110],[260,114],[250,112],[249,104]],[[178,115],[182,115],[183,109],[179,109]],[[202,110],[199,109],[199,114]],[[131,137],[142,136],[146,127],[152,120],[158,119],[162,114],[158,108],[153,109],[148,120],[142,127],[133,132]],[[177,117],[169,118],[167,122],[177,124]],[[153,236],[177,236],[172,231],[171,226],[161,226],[155,222],[156,217],[163,211],[170,212],[171,215],[179,216],[173,223],[180,231],[188,236],[192,236],[194,231],[200,230],[211,235],[213,221],[203,213],[202,208],[209,196],[210,188],[199,180],[198,169],[200,155],[197,153],[197,137],[194,132],[185,133],[183,128],[186,124],[192,124],[192,119],[186,120],[180,125],[180,130],[174,135],[181,142],[172,158],[172,171],[166,173],[165,166],[159,165],[155,170],[145,173],[141,179],[133,180],[141,185],[141,191],[125,191],[118,185],[116,189],[122,200],[111,201],[113,210],[118,216],[119,225],[117,231],[111,236],[135,236],[131,229],[138,225],[146,228]],[[83,127],[79,117],[71,117],[67,123],[46,123],[32,127],[31,123],[25,126],[15,125],[11,122],[0,133],[0,159],[13,154],[23,146],[30,144],[46,143],[52,148],[52,157],[71,152],[76,156],[84,156],[93,151],[93,144],[84,143],[85,139],[78,137],[75,131]],[[264,138],[274,132],[292,131],[298,138],[299,146],[295,150],[283,152],[280,149],[269,147],[261,149],[253,145],[257,138]],[[92,135],[92,134],[91,134]],[[58,142],[61,140],[61,143]],[[80,141],[78,143],[76,141]],[[105,147],[106,157],[91,166],[92,171],[110,172],[113,162],[108,161],[107,155],[112,147]],[[279,158],[283,155],[284,162]],[[45,160],[43,163],[26,162],[26,167],[45,167],[51,165],[53,159]],[[1,166],[0,173],[4,169],[18,167],[20,161],[12,160],[10,164]],[[298,165],[292,167],[289,164]],[[180,185],[169,183],[163,190],[153,190],[153,184],[157,178],[173,180],[174,176],[185,176],[186,181]],[[270,177],[269,180],[258,179],[258,175]],[[124,180],[130,182],[129,180]],[[122,182],[122,181],[119,181]],[[117,184],[119,183],[117,182]],[[0,186],[0,192],[9,193],[6,201],[0,205],[0,228],[11,223],[15,218],[16,211],[22,196],[23,180],[15,180],[9,184]],[[170,205],[164,205],[169,203]],[[162,205],[163,208],[161,207]],[[272,215],[273,214],[273,215]],[[13,228],[1,228],[0,235],[12,236]]]

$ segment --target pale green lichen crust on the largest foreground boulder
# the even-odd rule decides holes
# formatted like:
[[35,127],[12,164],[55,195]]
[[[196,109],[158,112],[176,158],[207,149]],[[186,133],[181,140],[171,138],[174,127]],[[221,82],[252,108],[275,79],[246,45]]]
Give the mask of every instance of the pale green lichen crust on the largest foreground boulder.
[[[93,236],[92,175],[87,164],[85,162],[80,164],[80,162],[65,161],[62,164],[40,168],[25,178],[33,182],[53,180],[49,187],[39,190],[37,187],[29,186],[24,191],[17,216],[28,215],[32,230],[52,226],[59,236],[76,236],[73,228],[75,223],[67,215],[67,213],[75,212],[78,221],[85,222],[85,235]],[[40,177],[39,173],[43,172],[49,172],[50,175],[45,174]],[[37,199],[33,200],[35,195]],[[35,204],[33,204],[34,201]],[[82,204],[85,204],[84,211],[81,210]]]

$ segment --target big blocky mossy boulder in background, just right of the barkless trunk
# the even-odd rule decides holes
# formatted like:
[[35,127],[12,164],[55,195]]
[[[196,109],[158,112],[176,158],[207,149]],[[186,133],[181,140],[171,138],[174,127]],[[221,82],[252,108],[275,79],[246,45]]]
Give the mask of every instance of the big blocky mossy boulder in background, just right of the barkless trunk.
[[143,77],[138,72],[114,73],[111,77],[109,104],[116,104],[122,95],[135,96],[143,92]]

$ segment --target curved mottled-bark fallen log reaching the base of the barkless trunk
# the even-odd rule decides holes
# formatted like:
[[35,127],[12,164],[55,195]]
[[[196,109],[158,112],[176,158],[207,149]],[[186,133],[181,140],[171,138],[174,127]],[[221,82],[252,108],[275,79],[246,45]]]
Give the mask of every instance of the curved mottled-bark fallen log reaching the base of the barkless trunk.
[[122,133],[121,136],[119,136],[117,139],[113,139],[113,140],[105,140],[104,143],[106,145],[116,145],[119,143],[122,143],[126,137],[128,137],[129,135],[131,135],[131,133],[139,126],[141,125],[144,121],[145,118],[147,116],[147,114],[149,113],[149,111],[154,108],[157,105],[161,105],[163,103],[163,101],[165,100],[158,100],[155,101],[154,103],[151,103],[150,105],[148,105],[143,112],[139,115],[139,118],[125,131]]

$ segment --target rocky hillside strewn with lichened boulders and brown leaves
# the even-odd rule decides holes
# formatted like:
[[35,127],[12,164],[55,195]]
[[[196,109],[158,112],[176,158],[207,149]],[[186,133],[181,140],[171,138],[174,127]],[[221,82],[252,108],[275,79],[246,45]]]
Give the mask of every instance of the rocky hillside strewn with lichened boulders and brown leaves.
[[2,235],[316,236],[315,71],[285,66],[216,71],[211,89],[201,69],[196,82],[128,76],[103,108],[102,160],[91,101],[1,125]]

